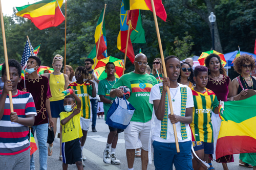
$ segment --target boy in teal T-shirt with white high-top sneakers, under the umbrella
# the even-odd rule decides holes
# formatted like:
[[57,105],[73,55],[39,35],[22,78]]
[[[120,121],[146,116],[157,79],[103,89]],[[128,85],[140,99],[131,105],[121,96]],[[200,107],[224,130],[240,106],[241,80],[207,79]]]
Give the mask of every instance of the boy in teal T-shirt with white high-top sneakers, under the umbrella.
[[[105,72],[108,77],[101,80],[99,82],[99,89],[98,89],[98,95],[100,98],[100,101],[103,102],[104,106],[104,114],[105,114],[105,120],[106,120],[106,114],[108,113],[113,101],[115,98],[110,97],[110,90],[113,87],[113,85],[117,82],[117,78],[115,78],[115,64],[113,62],[108,62],[105,65]],[[110,133],[108,136],[108,141],[106,143],[106,148],[103,153],[103,162],[104,163],[112,163],[114,165],[120,164],[120,160],[116,158],[115,150],[116,150],[116,144],[118,140],[118,133],[123,132],[123,129],[117,129],[109,126]]]

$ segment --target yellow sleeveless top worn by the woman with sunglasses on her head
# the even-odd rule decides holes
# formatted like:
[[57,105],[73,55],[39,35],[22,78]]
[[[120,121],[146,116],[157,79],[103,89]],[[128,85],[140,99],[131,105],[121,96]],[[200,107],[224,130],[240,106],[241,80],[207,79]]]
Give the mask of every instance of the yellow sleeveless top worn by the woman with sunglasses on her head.
[[[59,83],[57,83],[57,81]],[[51,93],[52,93],[50,102],[63,100],[65,98],[65,96],[61,92],[64,91],[64,87],[65,87],[64,75],[63,74],[61,74],[61,75],[50,74],[49,84],[50,84],[50,89],[51,89]]]

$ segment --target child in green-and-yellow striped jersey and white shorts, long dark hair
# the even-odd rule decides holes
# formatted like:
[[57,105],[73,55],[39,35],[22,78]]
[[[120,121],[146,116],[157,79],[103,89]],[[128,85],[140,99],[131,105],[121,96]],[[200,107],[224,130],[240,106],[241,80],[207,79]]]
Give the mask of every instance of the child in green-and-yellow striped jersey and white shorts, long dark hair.
[[[82,134],[83,134],[83,136],[81,137],[81,149],[83,149],[83,145],[86,142],[87,132],[89,130],[90,118],[91,118],[89,95],[95,98],[96,87],[94,82],[91,80],[91,77],[86,67],[83,67],[83,66],[77,67],[75,69],[75,77],[76,77],[76,82],[71,83],[68,86],[68,88],[78,90],[78,91],[75,91],[75,94],[81,100],[81,104],[82,104],[80,124],[81,124]],[[84,82],[84,80],[86,80],[86,82]],[[82,154],[82,159],[86,160],[86,157],[84,157],[83,154]]]

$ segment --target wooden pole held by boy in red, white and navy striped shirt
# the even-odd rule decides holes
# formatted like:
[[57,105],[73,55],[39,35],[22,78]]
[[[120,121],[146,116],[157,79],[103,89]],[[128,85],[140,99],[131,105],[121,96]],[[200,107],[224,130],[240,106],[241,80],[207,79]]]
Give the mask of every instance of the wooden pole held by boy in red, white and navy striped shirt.
[[[6,38],[5,38],[5,24],[4,24],[1,0],[0,0],[0,17],[1,17],[1,27],[2,27],[4,53],[5,53],[6,76],[7,76],[7,80],[11,80],[10,79],[10,71],[9,71],[8,55],[7,55],[7,47],[6,47]],[[9,91],[9,99],[10,99],[10,110],[11,110],[11,112],[13,112],[12,91]]]

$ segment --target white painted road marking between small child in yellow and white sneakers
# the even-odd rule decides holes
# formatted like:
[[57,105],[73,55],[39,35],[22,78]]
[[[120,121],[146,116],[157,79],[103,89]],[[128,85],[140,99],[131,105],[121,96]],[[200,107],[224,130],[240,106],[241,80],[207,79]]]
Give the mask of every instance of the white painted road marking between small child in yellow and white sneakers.
[[[97,135],[98,136],[98,135]],[[83,154],[86,156],[87,159],[94,162],[97,166],[100,166],[100,168],[106,169],[106,170],[120,170],[120,168],[117,167],[117,165],[112,164],[106,164],[103,162],[103,158],[95,155],[91,151],[83,148]],[[103,156],[103,152],[102,152]]]

